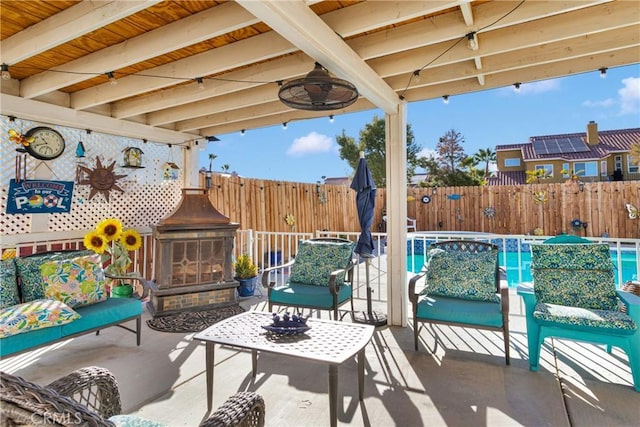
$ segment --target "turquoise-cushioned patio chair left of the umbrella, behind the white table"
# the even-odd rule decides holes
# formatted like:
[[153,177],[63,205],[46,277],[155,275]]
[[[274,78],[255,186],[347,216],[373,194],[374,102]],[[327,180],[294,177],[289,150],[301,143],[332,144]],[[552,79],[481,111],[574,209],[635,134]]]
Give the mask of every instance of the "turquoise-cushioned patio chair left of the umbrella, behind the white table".
[[[268,288],[269,311],[273,306],[330,310],[338,319],[338,307],[351,302],[353,312],[354,243],[345,239],[302,240],[293,261],[267,268],[262,285]],[[271,273],[291,268],[286,283],[270,280]]]

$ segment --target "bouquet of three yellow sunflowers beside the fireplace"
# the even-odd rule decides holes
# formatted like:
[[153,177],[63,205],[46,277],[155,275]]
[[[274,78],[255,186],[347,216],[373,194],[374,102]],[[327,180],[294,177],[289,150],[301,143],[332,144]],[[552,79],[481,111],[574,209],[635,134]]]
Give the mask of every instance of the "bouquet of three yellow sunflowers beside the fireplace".
[[139,276],[128,271],[132,264],[129,252],[142,246],[142,237],[132,228],[123,229],[117,218],[100,221],[94,231],[85,234],[84,246],[102,255],[103,262],[110,261],[105,273],[117,278],[115,286],[126,284],[127,278]]

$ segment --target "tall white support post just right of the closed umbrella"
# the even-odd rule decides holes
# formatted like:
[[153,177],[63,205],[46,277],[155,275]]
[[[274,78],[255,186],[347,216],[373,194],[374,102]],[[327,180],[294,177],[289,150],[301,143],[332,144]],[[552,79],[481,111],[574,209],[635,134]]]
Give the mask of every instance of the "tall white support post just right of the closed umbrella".
[[407,326],[407,103],[385,115],[387,155],[387,319]]

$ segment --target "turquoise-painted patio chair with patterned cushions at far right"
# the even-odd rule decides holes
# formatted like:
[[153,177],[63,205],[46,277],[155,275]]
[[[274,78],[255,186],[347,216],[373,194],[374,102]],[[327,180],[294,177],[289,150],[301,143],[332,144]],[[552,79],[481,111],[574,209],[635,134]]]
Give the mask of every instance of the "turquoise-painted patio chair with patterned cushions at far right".
[[[537,371],[547,337],[620,347],[640,391],[640,297],[617,290],[609,245],[531,246],[533,285],[518,286],[525,304],[529,369]],[[627,313],[621,310],[624,304]]]

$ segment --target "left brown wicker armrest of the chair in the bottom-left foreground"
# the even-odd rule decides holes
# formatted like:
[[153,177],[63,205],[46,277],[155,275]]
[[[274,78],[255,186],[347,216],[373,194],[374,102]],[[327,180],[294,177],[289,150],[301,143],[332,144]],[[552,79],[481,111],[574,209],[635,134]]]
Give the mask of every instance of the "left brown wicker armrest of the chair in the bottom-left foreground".
[[103,418],[119,415],[122,411],[118,382],[104,368],[90,366],[78,369],[58,378],[47,388],[73,399]]

